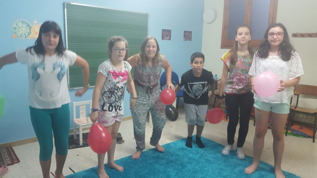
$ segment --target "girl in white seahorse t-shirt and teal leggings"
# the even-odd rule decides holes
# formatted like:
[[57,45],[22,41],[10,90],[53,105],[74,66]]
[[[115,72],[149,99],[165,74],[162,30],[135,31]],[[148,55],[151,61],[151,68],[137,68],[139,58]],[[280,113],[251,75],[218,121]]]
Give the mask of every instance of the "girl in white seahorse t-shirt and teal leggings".
[[34,46],[18,50],[0,58],[0,69],[5,64],[20,62],[28,66],[30,118],[40,145],[40,165],[43,177],[49,177],[53,136],[56,149],[56,177],[62,171],[68,152],[70,102],[66,70],[77,65],[82,68],[84,87],[75,95],[87,91],[89,66],[86,60],[63,46],[61,28],[55,22],[41,25]]

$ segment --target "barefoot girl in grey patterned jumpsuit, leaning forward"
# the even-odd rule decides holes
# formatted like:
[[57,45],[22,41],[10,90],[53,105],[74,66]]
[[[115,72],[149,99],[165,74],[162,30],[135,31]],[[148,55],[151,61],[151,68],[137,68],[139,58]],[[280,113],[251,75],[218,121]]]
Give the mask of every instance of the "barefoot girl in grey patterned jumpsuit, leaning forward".
[[[135,54],[128,59],[134,68],[133,76],[135,89],[138,94],[136,106],[131,109],[133,120],[134,138],[137,144],[133,159],[139,159],[145,149],[145,126],[146,115],[149,111],[152,114],[153,132],[150,144],[155,146],[159,152],[164,152],[164,148],[159,145],[162,130],[165,125],[165,112],[160,100],[160,74],[162,68],[166,73],[166,87],[174,91],[171,82],[172,68],[163,54],[159,54],[159,44],[157,40],[148,36],[141,45],[141,53]],[[129,91],[129,88],[127,87]]]

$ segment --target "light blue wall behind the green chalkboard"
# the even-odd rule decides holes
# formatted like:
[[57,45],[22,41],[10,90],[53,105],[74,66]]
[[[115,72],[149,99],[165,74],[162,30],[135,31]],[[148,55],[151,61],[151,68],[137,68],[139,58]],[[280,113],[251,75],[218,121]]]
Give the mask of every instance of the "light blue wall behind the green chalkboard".
[[[160,52],[166,56],[172,70],[179,76],[190,69],[190,55],[201,52],[204,0],[78,0],[75,3],[148,13],[149,35],[158,39]],[[4,1],[0,7],[0,16],[0,56],[34,44],[35,39],[11,38],[12,24],[20,19],[31,25],[34,20],[37,20],[37,24],[47,20],[57,22],[63,29],[65,42],[64,1]],[[171,41],[161,40],[162,29],[172,30]],[[192,31],[192,41],[183,41],[184,30]],[[19,63],[6,65],[0,70],[0,96],[6,99],[5,112],[0,119],[0,144],[35,137],[29,117],[27,76],[27,67]],[[75,97],[74,90],[69,92],[72,102],[84,101],[92,98],[93,88],[88,89],[82,97]],[[126,94],[124,103],[125,116],[130,116],[129,94]],[[72,107],[70,104],[70,108]],[[72,109],[70,114],[72,118]],[[71,118],[69,122],[72,123]]]

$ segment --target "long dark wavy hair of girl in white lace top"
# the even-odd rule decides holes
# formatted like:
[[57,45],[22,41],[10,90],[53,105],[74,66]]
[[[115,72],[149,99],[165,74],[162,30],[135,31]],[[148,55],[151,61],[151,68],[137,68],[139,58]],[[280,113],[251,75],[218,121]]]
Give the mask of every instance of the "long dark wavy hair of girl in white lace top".
[[268,57],[268,51],[271,48],[271,45],[268,42],[268,31],[274,27],[280,27],[284,31],[284,37],[278,49],[278,55],[282,58],[282,60],[288,61],[291,59],[292,52],[294,52],[295,49],[293,45],[289,42],[289,36],[285,26],[281,23],[274,23],[268,27],[268,29],[265,31],[263,41],[261,42],[259,50],[257,51],[256,55],[259,56],[260,58]]

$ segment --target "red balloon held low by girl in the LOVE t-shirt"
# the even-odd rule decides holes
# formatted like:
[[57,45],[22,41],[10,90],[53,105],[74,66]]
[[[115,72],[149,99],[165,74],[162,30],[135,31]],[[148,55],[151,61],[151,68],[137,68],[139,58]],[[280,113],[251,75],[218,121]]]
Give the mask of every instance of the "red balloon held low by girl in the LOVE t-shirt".
[[88,134],[88,144],[94,152],[106,153],[111,146],[111,135],[101,124],[93,124]]

